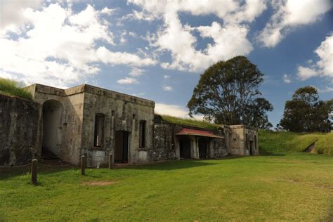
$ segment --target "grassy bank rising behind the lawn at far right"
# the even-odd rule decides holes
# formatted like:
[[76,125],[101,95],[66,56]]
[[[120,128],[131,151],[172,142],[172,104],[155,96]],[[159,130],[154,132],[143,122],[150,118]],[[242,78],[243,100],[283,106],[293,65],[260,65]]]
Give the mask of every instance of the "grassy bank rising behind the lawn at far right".
[[292,133],[259,130],[259,150],[301,152],[315,142],[315,151],[333,155],[333,133]]

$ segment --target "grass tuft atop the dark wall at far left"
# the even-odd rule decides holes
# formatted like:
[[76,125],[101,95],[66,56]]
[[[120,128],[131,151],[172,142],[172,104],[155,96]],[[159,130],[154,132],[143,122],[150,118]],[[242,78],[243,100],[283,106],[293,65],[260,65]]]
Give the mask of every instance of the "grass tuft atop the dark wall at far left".
[[0,78],[0,93],[6,96],[19,96],[32,100],[31,93],[22,89],[22,85],[14,80]]

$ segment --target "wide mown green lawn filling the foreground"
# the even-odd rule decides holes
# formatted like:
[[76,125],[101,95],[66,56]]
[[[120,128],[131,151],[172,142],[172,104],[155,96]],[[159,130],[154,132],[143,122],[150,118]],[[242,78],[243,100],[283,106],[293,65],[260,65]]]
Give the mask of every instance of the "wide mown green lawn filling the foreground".
[[[59,167],[60,168],[60,167]],[[0,221],[330,221],[333,157],[308,153],[0,170]],[[112,182],[93,185],[96,181]]]

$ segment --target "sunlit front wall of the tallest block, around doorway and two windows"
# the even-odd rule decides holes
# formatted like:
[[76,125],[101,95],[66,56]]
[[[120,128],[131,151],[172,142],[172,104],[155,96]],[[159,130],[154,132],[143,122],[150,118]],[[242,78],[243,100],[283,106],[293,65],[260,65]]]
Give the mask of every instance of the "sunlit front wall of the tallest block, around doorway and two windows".
[[[109,153],[115,152],[115,131],[129,132],[129,162],[150,162],[155,103],[95,86],[84,87],[81,152],[87,155],[89,166],[107,164]],[[93,146],[96,114],[104,116],[104,136],[100,147]],[[144,148],[139,148],[140,121],[146,122]]]

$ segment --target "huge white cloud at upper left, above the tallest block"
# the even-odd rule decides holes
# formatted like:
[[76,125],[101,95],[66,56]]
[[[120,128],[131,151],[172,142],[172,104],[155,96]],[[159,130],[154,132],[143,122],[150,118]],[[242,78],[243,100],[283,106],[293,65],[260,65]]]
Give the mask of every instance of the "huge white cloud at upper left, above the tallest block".
[[[99,63],[138,67],[156,63],[152,58],[107,49],[114,37],[100,14],[90,5],[79,13],[59,4],[39,11],[24,9],[26,24],[15,31],[20,37],[0,37],[0,72],[27,84],[65,87],[97,74]],[[97,41],[105,46],[97,48]]]

